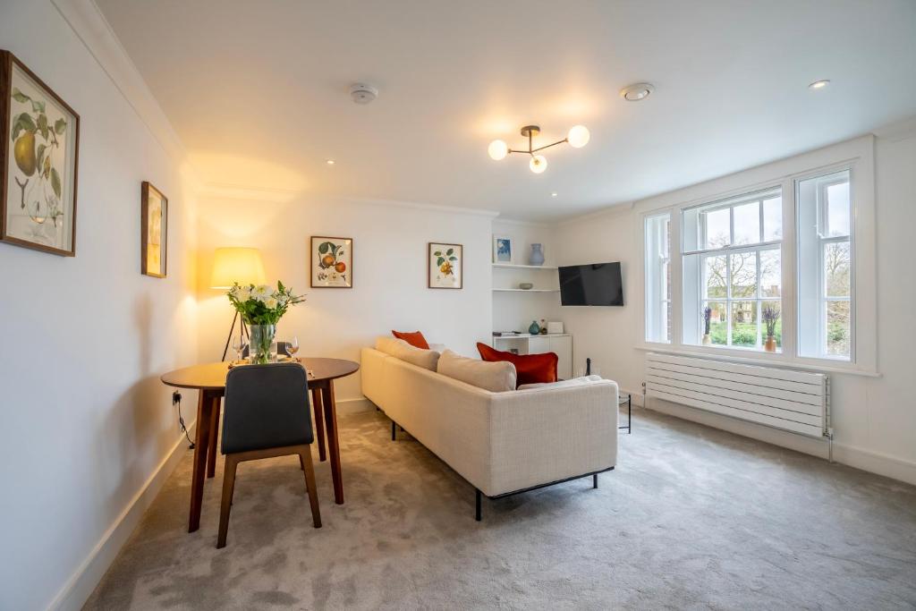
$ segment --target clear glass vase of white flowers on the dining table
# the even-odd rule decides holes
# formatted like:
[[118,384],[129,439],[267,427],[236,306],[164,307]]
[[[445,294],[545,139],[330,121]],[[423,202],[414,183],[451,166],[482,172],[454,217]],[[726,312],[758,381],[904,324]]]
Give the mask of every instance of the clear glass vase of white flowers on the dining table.
[[248,325],[248,335],[251,338],[248,358],[251,363],[273,361],[277,355],[277,343],[274,340],[277,323],[289,306],[301,303],[305,296],[294,295],[292,289],[284,287],[282,282],[277,283],[276,290],[266,284],[242,287],[235,283],[226,296]]

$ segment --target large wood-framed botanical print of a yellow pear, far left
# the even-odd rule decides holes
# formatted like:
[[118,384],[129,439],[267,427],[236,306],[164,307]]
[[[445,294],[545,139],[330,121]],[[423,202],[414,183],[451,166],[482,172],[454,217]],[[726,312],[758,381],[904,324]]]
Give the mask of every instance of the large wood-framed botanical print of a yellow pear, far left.
[[0,241],[76,254],[80,115],[0,51]]

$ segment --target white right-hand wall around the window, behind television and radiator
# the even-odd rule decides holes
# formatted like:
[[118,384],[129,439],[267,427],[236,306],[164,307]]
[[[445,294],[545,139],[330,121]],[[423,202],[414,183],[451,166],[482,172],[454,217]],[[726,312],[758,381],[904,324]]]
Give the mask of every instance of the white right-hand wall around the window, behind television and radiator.
[[[911,264],[911,232],[916,226],[916,129],[912,124],[891,129],[875,145],[878,259],[878,372],[880,377],[831,374],[835,458],[882,475],[916,484],[916,399],[912,386],[911,344],[916,316],[916,283]],[[750,171],[750,170],[748,170]],[[755,170],[757,171],[757,170]],[[735,182],[736,177],[727,177]],[[722,179],[726,180],[726,179]],[[562,265],[591,260],[622,262],[624,308],[562,308],[562,318],[575,336],[575,357],[592,356],[602,374],[621,387],[639,392],[644,351],[635,346],[642,329],[639,294],[642,266],[638,214],[660,202],[691,201],[689,187],[621,206],[598,216],[562,224],[558,237]],[[652,401],[663,409],[707,424],[736,431],[802,452],[826,454],[826,444],[797,435],[731,420],[696,409]]]

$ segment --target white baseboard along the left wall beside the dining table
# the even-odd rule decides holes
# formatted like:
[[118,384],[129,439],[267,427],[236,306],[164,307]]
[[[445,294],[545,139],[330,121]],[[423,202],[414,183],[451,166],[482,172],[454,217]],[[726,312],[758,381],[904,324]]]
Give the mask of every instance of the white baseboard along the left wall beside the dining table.
[[[196,424],[197,422],[195,421],[188,426],[188,434],[191,439],[194,438]],[[153,474],[149,476],[147,482],[127,504],[121,515],[105,531],[93,551],[71,575],[67,583],[60,588],[60,592],[48,606],[49,609],[54,611],[71,611],[71,609],[79,611],[79,609],[82,609],[86,599],[93,594],[95,586],[102,581],[102,577],[104,577],[108,567],[114,562],[114,558],[124,547],[125,542],[136,529],[136,525],[140,523],[143,513],[152,505],[153,500],[159,494],[159,490],[162,489],[166,480],[169,479],[169,475],[184,457],[188,447],[187,443],[188,441],[182,434],[166,457],[158,464]]]

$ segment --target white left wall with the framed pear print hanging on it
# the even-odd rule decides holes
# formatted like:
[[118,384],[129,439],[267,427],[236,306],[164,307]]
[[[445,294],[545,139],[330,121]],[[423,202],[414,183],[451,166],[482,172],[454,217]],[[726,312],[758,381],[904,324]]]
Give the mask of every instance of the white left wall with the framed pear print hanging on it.
[[[76,256],[0,244],[0,608],[78,607],[110,557],[93,560],[120,546],[108,530],[179,439],[158,376],[197,355],[193,200],[53,5],[5,0],[0,48],[82,120]],[[141,180],[169,196],[166,279],[139,272]]]

